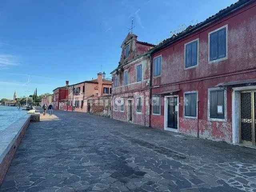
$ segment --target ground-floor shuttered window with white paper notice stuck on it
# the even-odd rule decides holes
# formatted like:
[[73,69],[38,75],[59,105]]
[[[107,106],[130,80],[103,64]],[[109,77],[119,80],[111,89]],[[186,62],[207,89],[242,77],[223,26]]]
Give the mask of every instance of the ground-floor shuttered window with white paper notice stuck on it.
[[224,89],[210,91],[210,118],[225,118]]

